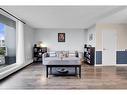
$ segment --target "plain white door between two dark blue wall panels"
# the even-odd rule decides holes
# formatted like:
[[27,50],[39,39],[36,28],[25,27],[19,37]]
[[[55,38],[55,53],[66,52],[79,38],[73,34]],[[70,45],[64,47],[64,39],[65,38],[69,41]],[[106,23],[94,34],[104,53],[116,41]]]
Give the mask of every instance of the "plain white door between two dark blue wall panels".
[[102,65],[116,65],[116,32],[102,32]]

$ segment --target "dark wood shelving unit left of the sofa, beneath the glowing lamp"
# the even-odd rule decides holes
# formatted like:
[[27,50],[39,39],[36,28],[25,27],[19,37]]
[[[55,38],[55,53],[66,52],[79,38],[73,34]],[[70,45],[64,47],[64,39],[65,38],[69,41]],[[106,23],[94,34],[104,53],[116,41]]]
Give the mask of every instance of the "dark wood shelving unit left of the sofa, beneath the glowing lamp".
[[47,52],[47,47],[34,47],[33,48],[33,60],[34,62],[42,61],[42,54]]

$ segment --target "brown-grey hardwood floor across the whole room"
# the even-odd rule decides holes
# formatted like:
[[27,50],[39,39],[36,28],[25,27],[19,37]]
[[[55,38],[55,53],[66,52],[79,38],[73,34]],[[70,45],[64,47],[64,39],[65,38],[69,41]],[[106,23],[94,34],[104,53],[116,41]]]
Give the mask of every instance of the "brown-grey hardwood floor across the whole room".
[[0,89],[127,89],[127,67],[82,65],[82,78],[52,76],[47,79],[45,66],[32,63],[0,81]]

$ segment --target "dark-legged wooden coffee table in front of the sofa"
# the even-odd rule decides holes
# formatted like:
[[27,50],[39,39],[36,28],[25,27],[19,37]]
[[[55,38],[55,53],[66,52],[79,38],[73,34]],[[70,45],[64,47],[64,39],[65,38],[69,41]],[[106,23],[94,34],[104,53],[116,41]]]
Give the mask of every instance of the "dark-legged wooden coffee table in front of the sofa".
[[49,70],[52,74],[53,67],[73,67],[75,68],[75,75],[81,78],[81,62],[77,60],[52,60],[46,65],[46,77],[48,78]]

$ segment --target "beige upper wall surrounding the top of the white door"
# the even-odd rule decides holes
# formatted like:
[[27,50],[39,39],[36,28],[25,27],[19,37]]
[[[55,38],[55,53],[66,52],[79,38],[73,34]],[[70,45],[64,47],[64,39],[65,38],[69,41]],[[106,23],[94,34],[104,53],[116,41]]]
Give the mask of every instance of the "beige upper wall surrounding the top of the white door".
[[96,25],[96,49],[102,50],[102,31],[115,31],[117,34],[117,51],[127,49],[127,24],[99,23]]

